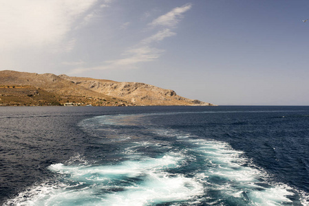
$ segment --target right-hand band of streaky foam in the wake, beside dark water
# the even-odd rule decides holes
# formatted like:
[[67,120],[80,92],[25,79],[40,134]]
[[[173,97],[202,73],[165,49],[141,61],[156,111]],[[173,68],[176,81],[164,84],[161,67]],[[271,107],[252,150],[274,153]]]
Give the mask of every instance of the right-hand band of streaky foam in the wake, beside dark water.
[[[272,185],[266,172],[246,159],[243,152],[233,150],[225,142],[190,138],[188,134],[173,130],[157,130],[156,133],[169,137],[173,134],[178,141],[191,145],[187,153],[200,161],[195,180],[207,188],[208,194],[204,195],[214,200],[206,201],[208,204],[301,205],[289,198],[297,191],[281,183]],[[303,205],[306,203],[303,202]]]

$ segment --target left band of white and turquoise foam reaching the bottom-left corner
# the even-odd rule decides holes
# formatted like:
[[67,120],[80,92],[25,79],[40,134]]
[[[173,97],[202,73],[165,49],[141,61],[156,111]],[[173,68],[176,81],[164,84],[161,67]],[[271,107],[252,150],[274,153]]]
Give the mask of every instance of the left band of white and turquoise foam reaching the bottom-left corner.
[[[182,174],[165,170],[177,168],[181,154],[161,158],[124,161],[117,165],[50,165],[63,176],[61,185],[34,187],[30,199],[10,201],[14,205],[149,205],[186,201],[202,194],[202,184]],[[36,194],[35,194],[36,193]],[[25,196],[25,194],[23,194]]]

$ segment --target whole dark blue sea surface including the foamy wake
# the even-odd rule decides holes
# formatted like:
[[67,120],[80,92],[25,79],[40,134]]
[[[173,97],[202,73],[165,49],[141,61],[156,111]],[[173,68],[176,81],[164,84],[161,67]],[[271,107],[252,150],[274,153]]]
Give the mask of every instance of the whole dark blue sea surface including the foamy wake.
[[309,205],[309,106],[0,107],[0,205]]

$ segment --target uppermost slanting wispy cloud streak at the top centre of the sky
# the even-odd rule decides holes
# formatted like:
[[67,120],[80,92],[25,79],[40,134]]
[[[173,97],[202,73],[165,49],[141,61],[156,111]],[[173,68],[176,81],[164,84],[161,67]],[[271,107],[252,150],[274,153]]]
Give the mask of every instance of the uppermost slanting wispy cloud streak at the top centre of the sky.
[[167,14],[164,14],[162,16],[159,16],[157,19],[153,20],[149,25],[151,26],[167,26],[167,27],[174,27],[180,19],[182,19],[182,14],[184,12],[187,12],[192,7],[191,3],[187,3],[185,5],[182,5],[182,7],[176,7]]

